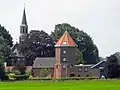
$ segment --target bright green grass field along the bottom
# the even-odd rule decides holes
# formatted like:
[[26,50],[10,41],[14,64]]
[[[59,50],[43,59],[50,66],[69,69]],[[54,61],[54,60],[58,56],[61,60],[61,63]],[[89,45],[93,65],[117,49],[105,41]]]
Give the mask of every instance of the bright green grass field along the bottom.
[[0,82],[0,90],[120,90],[120,80]]

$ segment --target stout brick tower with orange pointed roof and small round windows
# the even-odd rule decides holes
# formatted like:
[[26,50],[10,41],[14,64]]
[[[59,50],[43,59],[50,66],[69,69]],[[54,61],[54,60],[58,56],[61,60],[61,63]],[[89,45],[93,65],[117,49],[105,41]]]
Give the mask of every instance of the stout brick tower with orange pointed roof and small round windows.
[[55,45],[54,78],[76,76],[76,43],[66,31]]

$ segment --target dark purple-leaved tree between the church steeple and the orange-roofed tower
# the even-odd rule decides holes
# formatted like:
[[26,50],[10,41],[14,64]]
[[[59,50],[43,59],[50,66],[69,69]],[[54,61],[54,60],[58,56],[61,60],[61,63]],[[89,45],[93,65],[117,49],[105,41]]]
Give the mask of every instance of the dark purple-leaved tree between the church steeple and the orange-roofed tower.
[[33,64],[36,57],[54,57],[54,43],[52,38],[43,30],[33,30],[29,34],[28,43],[21,45],[23,55],[28,65]]

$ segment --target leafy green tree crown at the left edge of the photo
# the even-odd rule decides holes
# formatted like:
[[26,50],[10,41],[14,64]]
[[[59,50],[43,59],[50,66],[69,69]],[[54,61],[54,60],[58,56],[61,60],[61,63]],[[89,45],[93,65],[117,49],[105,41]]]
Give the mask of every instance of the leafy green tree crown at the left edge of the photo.
[[4,62],[10,54],[10,47],[13,45],[12,37],[9,32],[0,25],[0,62]]

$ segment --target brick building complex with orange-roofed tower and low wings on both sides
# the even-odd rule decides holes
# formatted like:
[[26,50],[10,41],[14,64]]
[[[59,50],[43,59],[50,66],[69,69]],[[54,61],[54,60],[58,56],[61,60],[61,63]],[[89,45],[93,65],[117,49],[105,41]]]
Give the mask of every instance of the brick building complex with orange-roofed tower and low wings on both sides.
[[55,79],[65,77],[100,77],[100,69],[96,65],[76,65],[75,50],[77,45],[68,32],[55,45],[55,57],[36,58],[33,64],[34,77],[51,76]]

